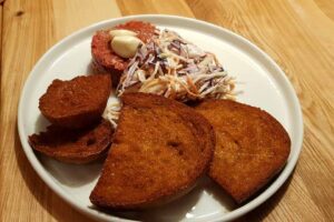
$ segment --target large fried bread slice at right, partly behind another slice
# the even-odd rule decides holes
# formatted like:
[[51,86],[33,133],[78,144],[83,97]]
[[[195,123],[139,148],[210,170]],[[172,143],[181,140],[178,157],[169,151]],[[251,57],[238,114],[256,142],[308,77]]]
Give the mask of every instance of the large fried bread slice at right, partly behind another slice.
[[216,149],[209,176],[242,203],[284,167],[291,140],[267,112],[230,100],[207,100],[196,107],[213,124]]

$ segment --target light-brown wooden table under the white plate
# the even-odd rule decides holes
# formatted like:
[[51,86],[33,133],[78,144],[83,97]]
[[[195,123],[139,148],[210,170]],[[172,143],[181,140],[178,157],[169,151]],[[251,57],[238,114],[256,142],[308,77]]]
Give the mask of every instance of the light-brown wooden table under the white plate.
[[305,138],[284,186],[240,221],[334,221],[333,0],[0,0],[0,221],[90,221],[37,175],[17,131],[18,100],[37,60],[71,32],[137,13],[197,18],[233,30],[285,71]]

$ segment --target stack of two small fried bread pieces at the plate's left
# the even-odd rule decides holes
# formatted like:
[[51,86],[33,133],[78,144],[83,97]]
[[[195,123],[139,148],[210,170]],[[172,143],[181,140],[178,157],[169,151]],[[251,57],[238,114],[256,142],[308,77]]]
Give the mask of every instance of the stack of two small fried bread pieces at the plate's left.
[[106,74],[53,80],[39,99],[41,114],[51,122],[46,132],[29,137],[38,152],[69,163],[105,157],[114,128],[101,118],[111,91]]

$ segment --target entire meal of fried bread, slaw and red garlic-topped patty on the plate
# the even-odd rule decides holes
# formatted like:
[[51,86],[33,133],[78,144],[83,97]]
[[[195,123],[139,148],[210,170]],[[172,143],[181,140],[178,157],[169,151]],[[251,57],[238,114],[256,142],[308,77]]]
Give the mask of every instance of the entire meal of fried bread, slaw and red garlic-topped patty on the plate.
[[[51,127],[29,142],[63,162],[108,152],[90,194],[95,205],[156,206],[186,194],[206,173],[242,203],[287,161],[282,124],[233,101],[235,78],[178,33],[129,21],[97,31],[91,54],[98,73],[55,80],[40,98]],[[119,102],[107,104],[111,85]]]

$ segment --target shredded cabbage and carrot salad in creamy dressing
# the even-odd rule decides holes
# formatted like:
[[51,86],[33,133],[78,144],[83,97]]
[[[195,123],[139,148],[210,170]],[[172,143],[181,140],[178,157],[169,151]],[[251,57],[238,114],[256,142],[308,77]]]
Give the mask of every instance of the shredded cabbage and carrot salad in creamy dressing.
[[[235,98],[235,79],[227,74],[215,54],[205,52],[174,31],[157,31],[129,61],[116,89],[118,97],[135,91],[181,102]],[[115,105],[105,111],[114,125],[119,111],[119,104]]]

